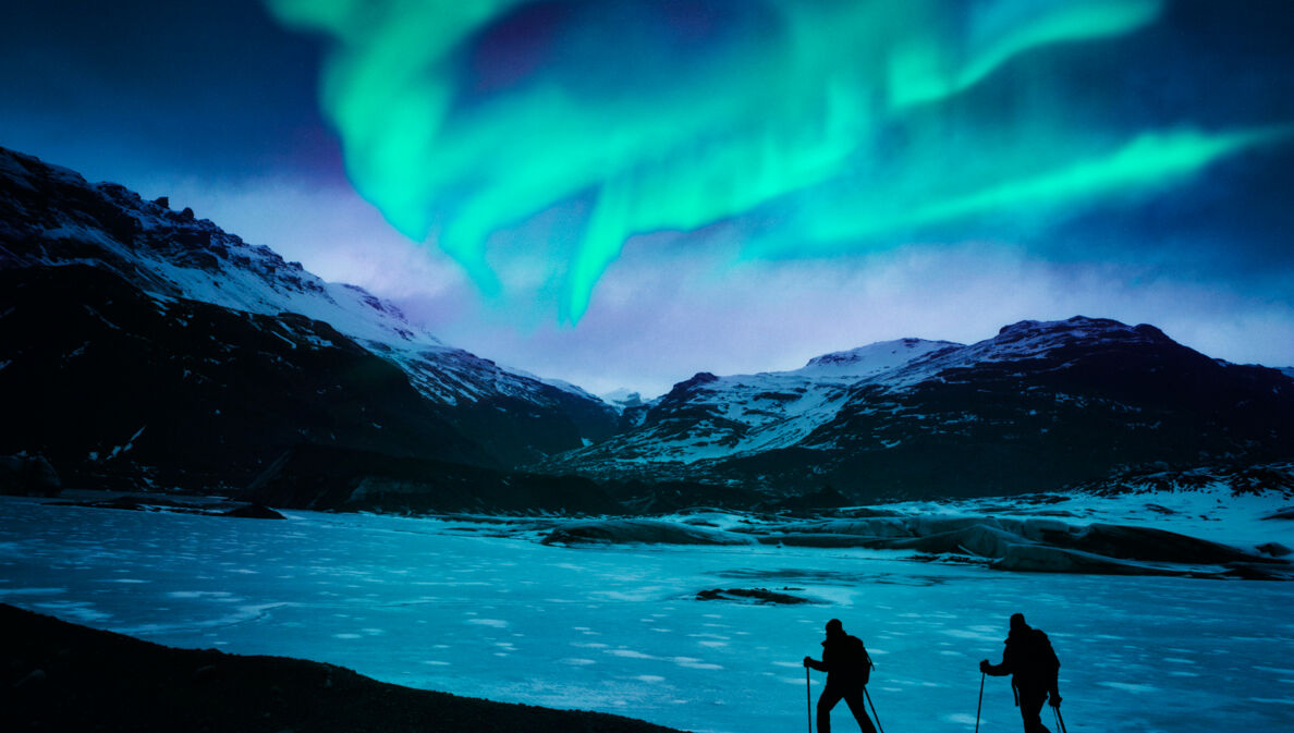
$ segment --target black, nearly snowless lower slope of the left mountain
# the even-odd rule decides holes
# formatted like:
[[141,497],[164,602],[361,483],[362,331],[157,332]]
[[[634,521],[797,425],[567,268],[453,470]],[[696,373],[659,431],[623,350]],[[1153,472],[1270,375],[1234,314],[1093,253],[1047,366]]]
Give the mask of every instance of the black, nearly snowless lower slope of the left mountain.
[[487,460],[396,366],[304,316],[159,302],[89,265],[0,271],[0,455],[40,453],[69,486],[237,490],[302,443]]

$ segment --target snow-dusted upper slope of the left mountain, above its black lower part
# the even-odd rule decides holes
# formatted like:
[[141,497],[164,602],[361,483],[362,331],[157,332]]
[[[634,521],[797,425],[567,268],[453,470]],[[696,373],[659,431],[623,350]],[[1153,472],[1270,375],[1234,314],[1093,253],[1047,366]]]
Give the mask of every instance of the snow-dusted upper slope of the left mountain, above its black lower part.
[[400,310],[355,285],[325,282],[267,246],[248,245],[189,210],[148,202],[115,184],[0,148],[0,263],[91,263],[159,299],[185,298],[251,313],[325,321],[397,364],[428,399],[454,405],[511,398],[549,409],[602,414],[609,407],[565,383],[510,370],[454,348]]

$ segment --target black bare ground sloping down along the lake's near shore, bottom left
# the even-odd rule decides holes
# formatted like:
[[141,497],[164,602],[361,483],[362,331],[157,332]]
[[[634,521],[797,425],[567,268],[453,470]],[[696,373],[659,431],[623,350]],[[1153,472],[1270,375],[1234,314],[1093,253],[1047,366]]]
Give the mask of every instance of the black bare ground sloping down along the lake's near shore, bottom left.
[[673,730],[415,690],[304,659],[171,649],[8,605],[0,629],[0,730]]

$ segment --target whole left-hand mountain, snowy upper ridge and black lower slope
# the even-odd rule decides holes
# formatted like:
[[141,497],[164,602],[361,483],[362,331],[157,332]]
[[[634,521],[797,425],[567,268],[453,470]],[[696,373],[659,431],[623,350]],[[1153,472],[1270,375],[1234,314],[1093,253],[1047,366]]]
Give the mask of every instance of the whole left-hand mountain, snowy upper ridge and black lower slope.
[[[259,461],[295,440],[510,466],[602,439],[617,420],[577,387],[448,346],[393,304],[324,282],[188,209],[5,149],[0,273],[0,394],[25,404],[9,422],[27,426],[9,429],[0,453],[58,453],[63,464],[159,453],[202,414],[179,404],[228,416],[252,395],[273,417],[247,414],[194,440],[242,444],[238,433],[251,431],[269,440]],[[62,343],[70,335],[79,341]],[[138,382],[145,373],[151,385]],[[339,391],[353,404],[345,414],[304,407]],[[88,401],[67,403],[71,392]],[[72,439],[60,421],[105,430]],[[118,421],[124,435],[102,425]]]

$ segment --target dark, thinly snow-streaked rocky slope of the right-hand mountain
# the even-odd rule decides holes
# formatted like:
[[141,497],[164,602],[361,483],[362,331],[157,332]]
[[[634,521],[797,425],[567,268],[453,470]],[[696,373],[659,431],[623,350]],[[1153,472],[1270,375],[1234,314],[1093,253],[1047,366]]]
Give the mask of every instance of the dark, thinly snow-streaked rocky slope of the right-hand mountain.
[[[823,479],[873,496],[1008,495],[1130,466],[1294,453],[1294,381],[1275,369],[1219,363],[1153,326],[1101,319],[1025,321],[991,341],[970,359],[914,364],[915,383],[858,387],[804,443],[833,453],[813,461]],[[805,453],[787,458],[774,475],[804,466]]]

